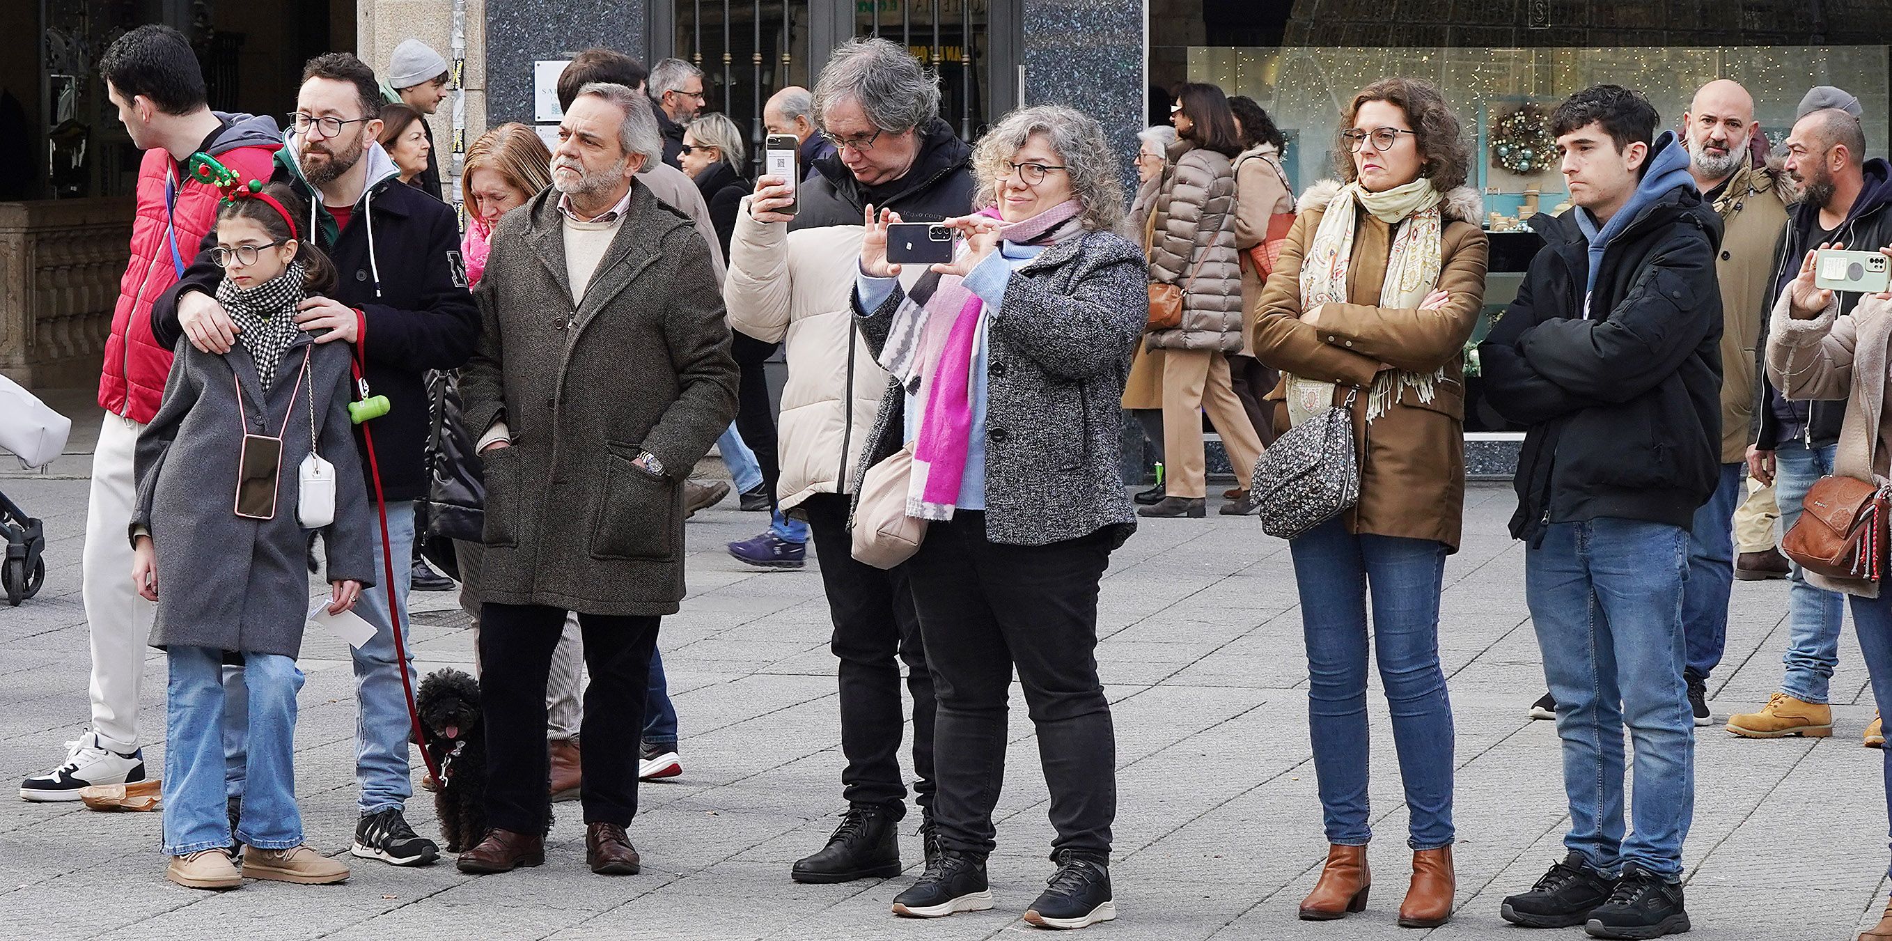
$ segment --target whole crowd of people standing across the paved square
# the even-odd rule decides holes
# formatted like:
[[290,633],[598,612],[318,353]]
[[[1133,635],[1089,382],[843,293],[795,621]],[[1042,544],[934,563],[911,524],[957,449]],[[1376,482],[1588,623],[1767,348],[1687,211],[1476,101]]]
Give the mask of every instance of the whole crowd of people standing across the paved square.
[[[789,877],[897,877],[912,790],[925,867],[893,913],[990,909],[1016,676],[1056,831],[1024,918],[1111,920],[1099,581],[1137,517],[1205,513],[1207,415],[1237,470],[1220,513],[1290,532],[1328,841],[1300,916],[1358,913],[1372,888],[1372,655],[1413,850],[1398,922],[1451,918],[1438,623],[1487,235],[1470,134],[1432,83],[1360,89],[1334,176],[1298,195],[1266,110],[1184,85],[1126,193],[1126,155],[1082,112],[1020,108],[969,144],[921,62],[851,40],[762,110],[795,176],[751,180],[700,70],[588,49],[558,81],[556,146],[503,123],[467,150],[462,231],[426,121],[447,62],[418,42],[384,76],[308,61],[280,131],[212,112],[168,28],[125,34],[100,70],[146,157],[83,557],[93,716],[21,797],[161,797],[166,875],[191,888],[348,879],[297,812],[295,657],[307,617],[359,612],[352,854],[435,861],[405,820],[407,591],[435,543],[473,617],[488,750],[488,829],[456,865],[543,863],[549,801],[577,799],[588,867],[638,873],[638,784],[681,771],[658,627],[685,595],[685,519],[728,494],[691,479],[717,447],[738,504],[770,517],[728,553],[797,568],[812,540],[834,623],[848,810]],[[1820,288],[1814,252],[1892,242],[1892,169],[1833,87],[1801,100],[1780,159],[1727,80],[1674,131],[1618,85],[1550,121],[1572,208],[1534,220],[1544,246],[1478,356],[1527,428],[1510,528],[1570,829],[1502,916],[1659,937],[1690,930],[1693,737],[1731,581],[1792,577],[1792,600],[1780,691],[1729,733],[1831,735],[1847,598],[1892,697],[1884,560],[1822,576],[1773,534],[1822,481],[1888,477],[1892,293]],[[895,257],[914,222],[954,233],[948,259]],[[1126,413],[1164,468],[1141,492],[1118,470]],[[1323,487],[1283,496],[1275,458]],[[146,646],[170,666],[161,780]],[[1892,905],[1862,939],[1892,939]]]

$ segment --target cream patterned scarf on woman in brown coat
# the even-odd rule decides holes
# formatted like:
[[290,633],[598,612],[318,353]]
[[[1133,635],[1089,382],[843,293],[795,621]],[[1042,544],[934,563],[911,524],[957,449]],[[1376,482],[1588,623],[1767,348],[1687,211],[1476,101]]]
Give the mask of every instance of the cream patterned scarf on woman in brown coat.
[[[1393,237],[1393,248],[1387,252],[1387,280],[1379,290],[1379,305],[1417,309],[1438,284],[1438,273],[1444,267],[1440,242],[1444,218],[1438,208],[1444,199],[1427,178],[1383,193],[1370,193],[1358,182],[1340,187],[1321,216],[1313,246],[1302,259],[1302,311],[1313,311],[1324,303],[1349,303],[1347,263],[1353,259],[1355,203],[1366,206],[1366,212],[1372,212],[1379,222],[1398,225],[1398,235]],[[1404,225],[1400,225],[1402,222]],[[1381,369],[1366,396],[1366,420],[1372,422],[1391,411],[1406,388],[1411,388],[1419,401],[1432,401],[1434,382],[1442,379],[1445,379],[1445,367],[1432,373]],[[1288,377],[1288,424],[1300,424],[1332,403],[1334,382]]]

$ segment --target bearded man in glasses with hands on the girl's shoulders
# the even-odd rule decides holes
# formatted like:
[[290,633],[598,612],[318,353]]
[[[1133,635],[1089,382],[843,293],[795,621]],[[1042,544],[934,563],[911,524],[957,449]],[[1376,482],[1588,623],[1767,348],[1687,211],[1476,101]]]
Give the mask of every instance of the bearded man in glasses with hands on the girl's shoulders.
[[[407,685],[414,682],[405,648],[405,574],[414,542],[414,500],[428,492],[422,449],[431,434],[424,377],[428,369],[458,369],[467,362],[479,339],[479,314],[467,293],[454,210],[401,184],[399,169],[375,142],[380,104],[375,70],[354,55],[310,59],[289,115],[293,131],[276,151],[274,180],[308,199],[310,218],[297,225],[307,223],[308,237],[341,275],[331,297],[303,301],[297,324],[316,333],[316,343],[356,345],[367,394],[386,396],[390,403],[386,415],[358,426],[356,434],[369,492],[377,492],[371,468],[378,466],[388,538],[377,553],[392,555],[395,579],[392,587],[363,591],[356,608],[375,625],[375,636],[352,651],[359,704],[356,780],[361,786],[352,852],[394,865],[424,865],[439,858],[439,848],[403,818],[412,797]],[[206,240],[178,286],[153,307],[151,329],[161,343],[172,345],[184,335],[199,350],[221,354],[236,339],[235,324],[216,301],[223,269],[212,261],[210,248]],[[375,435],[375,460],[369,460],[363,428]],[[397,655],[394,613],[399,613],[401,649],[409,657]],[[231,752],[240,763],[236,742]]]

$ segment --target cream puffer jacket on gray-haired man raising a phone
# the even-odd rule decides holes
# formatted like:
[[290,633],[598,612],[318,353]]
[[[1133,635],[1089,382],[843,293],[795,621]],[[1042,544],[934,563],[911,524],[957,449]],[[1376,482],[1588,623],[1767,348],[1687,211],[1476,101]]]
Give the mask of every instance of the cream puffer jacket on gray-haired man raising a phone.
[[[781,388],[778,420],[781,481],[776,498],[781,509],[812,494],[848,490],[887,388],[887,371],[853,329],[853,278],[867,229],[787,229],[780,222],[755,222],[745,197],[736,212],[723,286],[730,328],[762,343],[787,341],[789,381]],[[925,265],[908,269],[918,278]]]

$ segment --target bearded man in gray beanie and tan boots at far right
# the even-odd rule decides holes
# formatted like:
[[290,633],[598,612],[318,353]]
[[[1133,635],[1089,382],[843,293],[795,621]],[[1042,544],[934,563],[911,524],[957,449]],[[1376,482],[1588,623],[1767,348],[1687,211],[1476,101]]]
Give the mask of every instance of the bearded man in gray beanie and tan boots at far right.
[[[1799,203],[1788,210],[1786,233],[1769,265],[1769,305],[1799,273],[1809,250],[1845,246],[1873,250],[1892,244],[1892,167],[1884,159],[1866,159],[1866,131],[1860,102],[1835,87],[1816,87],[1799,102],[1799,119],[1786,138],[1786,172],[1799,189]],[[1856,303],[1856,292],[1839,295],[1839,312]],[[1767,320],[1761,320],[1760,346],[1767,348]],[[1788,401],[1763,377],[1760,430],[1748,449],[1748,471],[1761,483],[1773,481],[1780,500],[1782,532],[1799,519],[1807,488],[1833,473],[1839,451],[1839,422],[1845,401]],[[1799,566],[1788,585],[1786,672],[1780,689],[1760,712],[1733,716],[1727,731],[1746,738],[1790,735],[1824,738],[1833,735],[1828,682],[1839,665],[1839,593],[1814,587]],[[1871,740],[1879,721],[1866,731]]]

